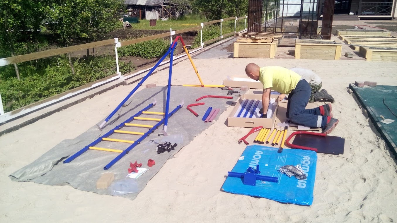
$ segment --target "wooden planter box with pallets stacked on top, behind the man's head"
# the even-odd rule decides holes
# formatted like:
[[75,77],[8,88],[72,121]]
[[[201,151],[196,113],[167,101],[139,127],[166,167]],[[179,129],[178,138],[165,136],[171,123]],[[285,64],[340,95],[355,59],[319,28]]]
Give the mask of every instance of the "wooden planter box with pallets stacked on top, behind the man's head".
[[274,42],[235,42],[235,58],[274,58],[277,51],[277,43]]

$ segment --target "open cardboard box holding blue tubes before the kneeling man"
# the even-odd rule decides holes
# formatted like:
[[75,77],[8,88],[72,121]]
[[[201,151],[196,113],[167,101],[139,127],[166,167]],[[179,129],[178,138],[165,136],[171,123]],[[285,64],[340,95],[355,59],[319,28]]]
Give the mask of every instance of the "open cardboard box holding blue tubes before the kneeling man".
[[262,94],[243,94],[237,101],[237,104],[234,106],[233,110],[227,117],[227,126],[228,127],[258,127],[258,126],[263,126],[264,128],[271,129],[274,127],[274,123],[276,122],[276,114],[278,110],[278,95],[270,95],[270,98],[275,98],[276,99],[276,109],[274,110],[274,114],[272,118],[237,118],[233,117],[233,115],[237,112],[239,109],[239,106],[241,102],[243,102],[244,99],[254,99],[254,100],[262,100]]

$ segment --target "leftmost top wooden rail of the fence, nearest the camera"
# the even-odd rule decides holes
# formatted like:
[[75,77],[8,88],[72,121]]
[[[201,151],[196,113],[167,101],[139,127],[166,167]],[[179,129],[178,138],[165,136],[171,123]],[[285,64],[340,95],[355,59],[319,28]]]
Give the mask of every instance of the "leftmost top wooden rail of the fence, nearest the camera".
[[78,50],[85,50],[88,48],[93,48],[93,47],[98,47],[98,46],[106,46],[106,45],[114,44],[114,43],[116,43],[116,38],[97,41],[97,42],[90,42],[90,43],[80,44],[80,45],[76,45],[76,46],[67,46],[67,47],[62,47],[62,48],[53,49],[53,50],[46,50],[46,51],[41,51],[41,52],[36,52],[36,53],[31,53],[31,54],[12,56],[12,57],[8,57],[8,58],[0,59],[0,66],[12,64],[12,63],[26,62],[29,60],[37,60],[37,59],[46,58],[49,56],[56,56],[56,55],[60,55],[60,54],[67,54],[67,53],[78,51]]

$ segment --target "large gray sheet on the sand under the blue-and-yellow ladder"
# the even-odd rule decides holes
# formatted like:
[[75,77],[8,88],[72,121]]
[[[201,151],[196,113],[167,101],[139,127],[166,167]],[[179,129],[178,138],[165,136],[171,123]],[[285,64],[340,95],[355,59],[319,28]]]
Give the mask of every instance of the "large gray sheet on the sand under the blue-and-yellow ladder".
[[[25,167],[15,171],[9,177],[12,179],[12,181],[32,181],[44,185],[71,185],[73,188],[77,188],[79,190],[110,195],[110,188],[96,189],[96,181],[100,178],[102,173],[114,173],[114,182],[121,181],[125,179],[125,176],[128,174],[127,169],[129,168],[129,163],[135,162],[135,160],[137,160],[138,163],[143,164],[142,167],[149,168],[149,170],[141,175],[138,179],[134,179],[140,192],[143,190],[143,188],[145,188],[147,182],[154,177],[154,175],[156,175],[156,173],[168,159],[172,158],[175,153],[183,148],[183,146],[189,144],[189,142],[193,140],[195,136],[199,135],[203,130],[212,125],[212,123],[204,123],[204,121],[201,120],[207,108],[210,106],[214,109],[220,108],[220,113],[222,113],[227,107],[235,102],[235,100],[237,100],[238,94],[234,94],[233,99],[204,98],[196,102],[195,100],[197,98],[204,95],[228,96],[227,90],[221,90],[219,88],[173,86],[171,88],[169,112],[175,109],[181,103],[181,101],[184,100],[184,106],[168,120],[168,133],[171,135],[183,135],[183,143],[178,144],[175,150],[172,150],[169,153],[164,152],[162,154],[157,154],[157,145],[149,142],[151,139],[159,140],[162,138],[162,135],[158,136],[158,134],[161,134],[161,126],[108,170],[104,170],[103,167],[111,160],[116,158],[118,153],[88,150],[70,163],[63,163],[63,161],[68,156],[71,156],[75,152],[81,150],[96,140],[96,138],[98,138],[100,135],[104,135],[106,132],[110,131],[121,122],[127,120],[129,117],[148,106],[154,101],[154,98],[156,98],[157,104],[148,111],[165,112],[166,92],[166,87],[142,89],[141,91],[134,94],[127,101],[127,103],[125,103],[125,106],[119,110],[119,112],[116,113],[116,115],[114,115],[114,117],[108,122],[111,124],[106,125],[103,131],[100,131],[96,126],[93,126],[85,133],[74,139],[63,140],[54,148],[40,156],[37,160],[33,161],[33,163],[30,163],[29,165],[26,165]],[[120,102],[123,99],[121,97]],[[199,102],[204,102],[205,104],[202,106],[192,107],[192,109],[199,114],[199,116],[196,117],[186,109],[186,106]],[[218,119],[220,113],[218,113],[215,120]],[[162,115],[145,114],[141,115],[140,117],[162,118]],[[98,124],[102,123],[102,121],[103,120],[99,121]],[[131,123],[155,125],[157,122],[135,120]],[[146,132],[148,131],[148,128],[123,127],[121,130]],[[126,140],[137,140],[139,137],[139,135],[127,135],[120,133],[115,133],[115,135],[109,136],[109,138],[119,138]],[[96,147],[124,150],[129,145],[131,144],[102,141],[97,144]],[[148,159],[155,160],[156,165],[148,167]],[[139,192],[125,194],[123,196],[132,200],[136,198]]]

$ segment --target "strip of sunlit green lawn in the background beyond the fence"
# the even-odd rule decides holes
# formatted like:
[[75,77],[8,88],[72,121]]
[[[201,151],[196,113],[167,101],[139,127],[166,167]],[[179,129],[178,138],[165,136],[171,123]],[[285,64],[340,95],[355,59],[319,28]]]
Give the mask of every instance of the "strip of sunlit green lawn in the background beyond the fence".
[[200,23],[205,22],[204,19],[191,19],[191,20],[167,20],[167,21],[156,21],[156,26],[150,26],[149,20],[139,20],[139,23],[131,24],[133,29],[148,29],[148,30],[179,30],[187,29],[195,26],[199,26]]

